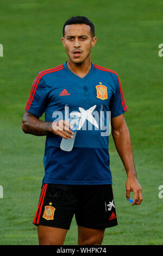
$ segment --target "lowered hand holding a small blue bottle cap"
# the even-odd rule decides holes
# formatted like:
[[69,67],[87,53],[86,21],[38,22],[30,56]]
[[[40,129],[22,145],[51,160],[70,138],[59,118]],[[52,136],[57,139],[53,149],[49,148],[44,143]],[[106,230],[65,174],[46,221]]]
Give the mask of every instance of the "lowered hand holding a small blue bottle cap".
[[142,198],[142,188],[139,184],[139,181],[137,180],[136,176],[127,178],[126,181],[126,197],[127,200],[130,198],[130,192],[133,191],[134,192],[134,202],[132,203],[132,205],[134,204],[141,204],[143,198]]

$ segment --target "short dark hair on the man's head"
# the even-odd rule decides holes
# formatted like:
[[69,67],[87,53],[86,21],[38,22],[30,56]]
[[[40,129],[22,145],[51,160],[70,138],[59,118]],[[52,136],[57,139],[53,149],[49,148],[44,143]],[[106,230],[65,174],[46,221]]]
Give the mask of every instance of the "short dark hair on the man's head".
[[91,28],[91,34],[92,37],[95,36],[95,26],[93,25],[92,21],[89,20],[87,17],[84,16],[73,16],[70,19],[68,19],[63,27],[63,36],[65,36],[65,26],[66,25],[72,25],[72,24],[86,24],[89,25]]

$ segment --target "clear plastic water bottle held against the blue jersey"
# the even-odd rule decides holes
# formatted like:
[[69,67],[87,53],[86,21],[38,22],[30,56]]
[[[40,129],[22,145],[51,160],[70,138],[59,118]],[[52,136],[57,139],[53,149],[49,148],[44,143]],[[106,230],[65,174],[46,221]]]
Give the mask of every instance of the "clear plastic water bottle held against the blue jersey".
[[70,129],[73,132],[73,138],[62,138],[60,148],[64,151],[71,151],[73,149],[74,140],[76,138],[77,130],[79,127],[79,118],[71,117],[68,118],[66,121],[68,121],[68,123],[70,123],[73,126],[73,128]]

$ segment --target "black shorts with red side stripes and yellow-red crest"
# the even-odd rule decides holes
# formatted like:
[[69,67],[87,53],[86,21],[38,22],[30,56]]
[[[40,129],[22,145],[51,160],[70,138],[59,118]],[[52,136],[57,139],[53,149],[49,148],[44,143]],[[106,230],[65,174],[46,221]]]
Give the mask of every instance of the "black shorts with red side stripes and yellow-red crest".
[[33,224],[70,229],[74,214],[82,227],[117,225],[112,185],[43,184]]

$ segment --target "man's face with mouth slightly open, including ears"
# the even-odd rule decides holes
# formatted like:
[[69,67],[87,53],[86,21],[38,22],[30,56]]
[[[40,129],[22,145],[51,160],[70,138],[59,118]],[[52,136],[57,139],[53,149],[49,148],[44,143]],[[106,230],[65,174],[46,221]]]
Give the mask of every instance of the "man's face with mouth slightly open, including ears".
[[95,46],[96,37],[92,38],[90,26],[72,24],[65,26],[65,36],[62,43],[66,48],[68,59],[73,63],[83,63],[90,58],[91,48]]

